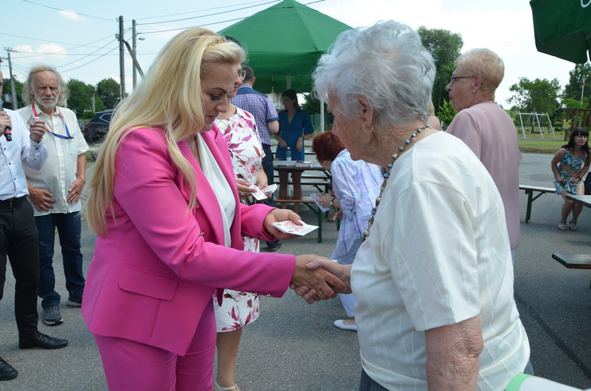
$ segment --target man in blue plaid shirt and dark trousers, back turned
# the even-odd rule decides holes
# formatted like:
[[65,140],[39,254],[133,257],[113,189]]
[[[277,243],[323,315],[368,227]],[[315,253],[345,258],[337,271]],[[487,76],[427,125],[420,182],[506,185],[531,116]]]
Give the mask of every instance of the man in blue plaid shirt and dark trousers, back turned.
[[[236,97],[232,99],[232,103],[247,111],[255,117],[259,136],[263,144],[263,150],[265,156],[263,157],[263,170],[267,175],[267,183],[273,184],[273,152],[271,151],[271,134],[275,134],[279,131],[279,116],[273,101],[269,99],[265,94],[258,92],[253,89],[255,84],[255,76],[253,68],[250,66],[242,66],[242,71],[246,73],[242,86],[236,93]],[[273,202],[273,194],[271,198],[266,202],[268,205],[275,205]],[[281,247],[281,242],[275,240],[273,242],[267,242],[268,251],[276,251]]]

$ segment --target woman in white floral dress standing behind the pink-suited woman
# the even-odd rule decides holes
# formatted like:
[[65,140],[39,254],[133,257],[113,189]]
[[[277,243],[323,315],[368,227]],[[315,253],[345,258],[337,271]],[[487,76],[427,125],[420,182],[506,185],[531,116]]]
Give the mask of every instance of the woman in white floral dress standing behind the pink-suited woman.
[[[240,77],[242,77],[240,75]],[[238,81],[238,78],[237,78]],[[240,83],[234,84],[235,91]],[[232,165],[242,203],[255,203],[250,186],[267,186],[267,177],[262,168],[263,147],[252,114],[234,105],[216,118],[216,126],[224,135],[232,154]],[[244,251],[259,251],[259,240],[244,237]],[[234,382],[234,366],[242,327],[252,323],[259,316],[260,300],[257,294],[224,290],[221,305],[214,294],[214,309],[218,337],[218,370],[214,379],[214,390],[238,390]]]

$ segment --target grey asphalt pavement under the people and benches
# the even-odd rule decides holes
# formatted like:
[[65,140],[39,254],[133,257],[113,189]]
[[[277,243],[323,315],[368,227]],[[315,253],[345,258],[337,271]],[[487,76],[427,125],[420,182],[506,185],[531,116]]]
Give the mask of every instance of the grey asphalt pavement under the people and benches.
[[[520,183],[553,186],[551,155],[524,154]],[[89,171],[92,171],[91,169]],[[515,298],[531,344],[536,375],[577,388],[591,388],[590,270],[567,269],[552,253],[590,253],[591,213],[583,210],[579,231],[558,231],[562,199],[543,194],[533,202],[525,223],[527,196],[520,196],[521,242],[516,251]],[[301,207],[301,216],[316,216]],[[323,243],[316,234],[284,242],[280,253],[316,253],[329,257],[338,237],[335,223],[323,223]],[[95,236],[82,225],[84,267],[92,258]],[[263,245],[264,247],[264,245]],[[56,242],[56,286],[67,297],[60,247]],[[264,249],[263,249],[264,251]],[[106,390],[101,360],[79,308],[61,306],[64,323],[39,329],[69,340],[55,351],[18,349],[14,322],[14,279],[7,270],[0,301],[0,356],[18,370],[18,377],[0,382],[0,390]],[[41,311],[40,303],[38,305]],[[189,310],[189,309],[188,309]],[[262,298],[261,315],[244,328],[236,364],[242,391],[357,390],[360,357],[357,334],[332,324],[346,314],[340,300],[307,305],[292,291],[283,298]]]

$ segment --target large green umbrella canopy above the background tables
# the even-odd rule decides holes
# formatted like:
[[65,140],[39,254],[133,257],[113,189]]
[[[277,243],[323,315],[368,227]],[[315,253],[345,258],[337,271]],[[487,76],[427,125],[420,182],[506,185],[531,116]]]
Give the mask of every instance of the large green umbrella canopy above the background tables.
[[318,59],[348,25],[294,0],[284,0],[218,31],[247,49],[260,92],[312,90]]

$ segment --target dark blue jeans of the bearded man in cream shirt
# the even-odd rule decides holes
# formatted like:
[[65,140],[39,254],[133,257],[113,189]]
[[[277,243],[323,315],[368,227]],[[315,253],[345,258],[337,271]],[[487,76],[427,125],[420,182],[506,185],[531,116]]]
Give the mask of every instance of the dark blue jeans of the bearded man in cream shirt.
[[55,228],[58,229],[66,289],[70,297],[81,298],[84,293],[84,274],[82,272],[82,253],[80,251],[81,220],[80,212],[50,213],[36,216],[35,223],[39,232],[39,289],[43,308],[60,305],[60,294],[55,292],[55,274],[53,273],[53,243]]

